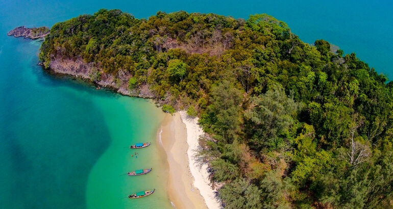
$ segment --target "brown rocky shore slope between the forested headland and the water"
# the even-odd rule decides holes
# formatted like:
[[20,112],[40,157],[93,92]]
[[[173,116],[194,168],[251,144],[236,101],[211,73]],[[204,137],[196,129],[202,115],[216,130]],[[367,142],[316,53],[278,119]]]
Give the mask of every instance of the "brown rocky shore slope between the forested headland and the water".
[[[148,85],[141,85],[133,91],[128,88],[128,81],[132,77],[129,72],[119,70],[115,77],[110,73],[96,68],[92,63],[86,63],[83,59],[54,59],[50,62],[49,68],[61,74],[68,74],[90,80],[95,84],[115,89],[118,93],[129,96],[137,96],[143,98],[155,98],[156,96],[150,91]],[[96,77],[96,74],[99,74]],[[93,80],[93,77],[95,80]]]

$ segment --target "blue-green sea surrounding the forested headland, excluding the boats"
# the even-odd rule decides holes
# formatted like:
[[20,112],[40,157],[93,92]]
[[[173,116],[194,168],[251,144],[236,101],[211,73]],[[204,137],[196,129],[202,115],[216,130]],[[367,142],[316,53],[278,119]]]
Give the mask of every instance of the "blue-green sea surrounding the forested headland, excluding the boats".
[[[166,156],[156,140],[163,113],[37,66],[39,41],[6,36],[101,8],[137,18],[157,11],[267,13],[302,40],[325,39],[378,72],[393,74],[393,1],[11,1],[0,2],[0,208],[170,208]],[[131,157],[130,144],[152,141]],[[144,176],[121,175],[153,167]],[[137,200],[128,194],[156,188]]]

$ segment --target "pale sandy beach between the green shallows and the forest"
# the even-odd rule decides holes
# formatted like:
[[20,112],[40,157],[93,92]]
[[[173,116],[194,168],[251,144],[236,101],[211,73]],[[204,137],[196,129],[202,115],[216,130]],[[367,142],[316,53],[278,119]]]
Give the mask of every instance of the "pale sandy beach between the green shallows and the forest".
[[220,208],[210,187],[207,165],[193,157],[198,149],[202,128],[184,111],[167,114],[159,137],[169,164],[168,196],[176,208]]

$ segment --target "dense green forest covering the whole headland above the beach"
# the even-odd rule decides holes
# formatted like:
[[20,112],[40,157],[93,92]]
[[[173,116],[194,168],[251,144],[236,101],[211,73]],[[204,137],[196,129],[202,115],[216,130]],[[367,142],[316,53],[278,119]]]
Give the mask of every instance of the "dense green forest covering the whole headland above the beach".
[[225,208],[393,206],[393,82],[272,16],[102,9],[53,25],[39,58],[199,116]]

